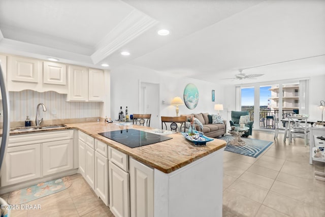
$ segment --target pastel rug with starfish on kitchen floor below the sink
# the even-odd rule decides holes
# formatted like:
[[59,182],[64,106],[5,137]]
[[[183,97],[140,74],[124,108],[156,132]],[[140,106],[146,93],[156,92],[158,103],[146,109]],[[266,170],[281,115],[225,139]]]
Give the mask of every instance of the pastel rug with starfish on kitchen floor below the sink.
[[31,187],[11,192],[8,198],[9,204],[22,204],[32,200],[39,199],[63,190],[71,186],[72,182],[69,176],[54,179],[47,182],[40,182]]

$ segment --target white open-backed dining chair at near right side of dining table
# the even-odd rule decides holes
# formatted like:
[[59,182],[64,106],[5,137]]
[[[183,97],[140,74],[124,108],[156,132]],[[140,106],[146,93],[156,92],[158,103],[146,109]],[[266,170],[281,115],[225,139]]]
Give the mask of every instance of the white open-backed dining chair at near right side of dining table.
[[293,138],[303,137],[305,139],[305,146],[308,143],[308,117],[295,117],[288,116],[288,125],[289,125],[289,142],[292,141]]

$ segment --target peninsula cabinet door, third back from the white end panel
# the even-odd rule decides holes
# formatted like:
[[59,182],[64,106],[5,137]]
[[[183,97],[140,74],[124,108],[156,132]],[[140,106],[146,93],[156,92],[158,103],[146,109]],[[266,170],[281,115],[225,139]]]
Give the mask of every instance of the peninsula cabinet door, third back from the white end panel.
[[95,151],[95,193],[108,206],[108,158]]

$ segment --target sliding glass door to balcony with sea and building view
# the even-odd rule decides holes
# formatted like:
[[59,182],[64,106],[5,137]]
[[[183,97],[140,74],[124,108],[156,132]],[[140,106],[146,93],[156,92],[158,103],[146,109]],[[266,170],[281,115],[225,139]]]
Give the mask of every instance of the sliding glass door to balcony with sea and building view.
[[295,114],[308,114],[308,83],[302,81],[279,81],[238,86],[237,97],[242,111],[249,111],[254,128],[274,129],[273,116],[280,120]]

